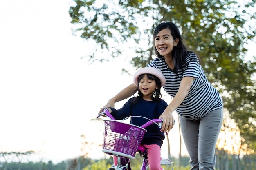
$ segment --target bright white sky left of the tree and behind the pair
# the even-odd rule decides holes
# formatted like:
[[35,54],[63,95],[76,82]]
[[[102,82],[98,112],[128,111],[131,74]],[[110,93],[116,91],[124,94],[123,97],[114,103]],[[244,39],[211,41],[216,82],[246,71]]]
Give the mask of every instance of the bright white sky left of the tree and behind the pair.
[[[90,119],[132,82],[132,76],[121,74],[128,63],[122,56],[91,65],[81,59],[97,49],[72,35],[70,1],[0,1],[0,152],[34,150],[29,161],[54,163],[81,155],[81,134],[102,142],[103,124]],[[177,156],[177,121],[170,138],[171,154]],[[101,147],[93,150],[90,157],[103,155]]]

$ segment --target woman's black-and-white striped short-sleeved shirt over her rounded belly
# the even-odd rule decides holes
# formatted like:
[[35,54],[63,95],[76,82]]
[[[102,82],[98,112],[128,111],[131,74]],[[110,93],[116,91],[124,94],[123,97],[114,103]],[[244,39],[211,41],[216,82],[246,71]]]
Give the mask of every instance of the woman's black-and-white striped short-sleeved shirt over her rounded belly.
[[163,88],[171,97],[174,97],[179,91],[182,77],[194,77],[188,95],[176,109],[176,112],[184,119],[198,120],[212,110],[222,108],[223,102],[216,88],[207,80],[195,53],[186,55],[186,63],[187,66],[183,74],[181,70],[176,74],[169,69],[164,58],[155,58],[148,66],[161,70],[166,78],[166,84]]

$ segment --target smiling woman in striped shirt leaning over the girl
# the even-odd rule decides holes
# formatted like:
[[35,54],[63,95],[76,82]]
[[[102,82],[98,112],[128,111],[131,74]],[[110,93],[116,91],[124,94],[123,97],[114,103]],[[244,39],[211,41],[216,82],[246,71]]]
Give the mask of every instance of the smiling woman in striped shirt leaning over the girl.
[[[173,97],[159,117],[163,119],[161,131],[173,128],[172,113],[176,110],[191,170],[214,170],[215,146],[223,120],[220,94],[207,80],[198,56],[184,46],[175,24],[159,24],[153,38],[157,58],[148,66],[162,72],[166,78],[163,88]],[[134,84],[124,88],[105,107],[114,107],[115,102],[130,97],[135,89]]]

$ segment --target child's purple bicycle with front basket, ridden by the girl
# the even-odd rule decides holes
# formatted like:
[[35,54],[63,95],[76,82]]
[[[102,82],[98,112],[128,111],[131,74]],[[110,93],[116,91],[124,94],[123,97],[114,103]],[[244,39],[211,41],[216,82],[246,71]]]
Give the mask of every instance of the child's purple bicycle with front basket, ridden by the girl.
[[[106,154],[117,156],[118,160],[117,166],[112,166],[108,168],[108,170],[132,170],[130,159],[134,159],[137,152],[139,152],[139,155],[143,157],[141,170],[147,170],[149,167],[147,149],[140,144],[144,137],[144,133],[146,132],[145,128],[151,124],[157,124],[159,128],[161,128],[162,119],[151,120],[146,117],[142,117],[148,119],[149,121],[142,126],[135,126],[122,122],[125,119],[123,119],[121,122],[116,121],[107,109],[104,109],[103,112],[99,113],[97,118],[100,116],[110,118],[110,120],[103,120],[104,136],[102,151]],[[161,165],[170,165],[172,166],[173,170],[173,162],[169,159],[162,159]]]

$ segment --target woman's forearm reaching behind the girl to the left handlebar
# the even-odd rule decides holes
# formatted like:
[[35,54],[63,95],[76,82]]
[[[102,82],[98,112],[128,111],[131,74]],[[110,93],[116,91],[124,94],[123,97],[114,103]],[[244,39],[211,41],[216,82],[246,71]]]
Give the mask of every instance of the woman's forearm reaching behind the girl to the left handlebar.
[[127,99],[128,97],[132,96],[136,89],[137,89],[137,86],[134,83],[130,84],[129,86],[121,90],[119,93],[117,93],[117,95],[109,99],[108,103],[103,108],[106,108],[106,107],[114,108],[116,102],[119,102],[121,100]]

